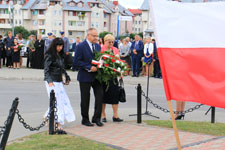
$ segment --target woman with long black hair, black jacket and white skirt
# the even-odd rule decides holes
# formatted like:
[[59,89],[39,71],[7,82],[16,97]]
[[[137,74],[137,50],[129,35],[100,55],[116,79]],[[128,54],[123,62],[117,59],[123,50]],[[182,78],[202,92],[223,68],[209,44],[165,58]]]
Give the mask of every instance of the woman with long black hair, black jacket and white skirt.
[[[56,38],[52,41],[49,49],[45,53],[44,58],[44,80],[47,88],[48,97],[50,98],[51,90],[54,90],[57,101],[58,127],[62,129],[66,119],[68,122],[75,120],[74,111],[71,107],[69,97],[66,93],[64,85],[69,85],[70,77],[64,68],[64,42],[61,38]],[[62,81],[62,76],[65,76],[65,83]],[[47,117],[49,110],[45,113]]]

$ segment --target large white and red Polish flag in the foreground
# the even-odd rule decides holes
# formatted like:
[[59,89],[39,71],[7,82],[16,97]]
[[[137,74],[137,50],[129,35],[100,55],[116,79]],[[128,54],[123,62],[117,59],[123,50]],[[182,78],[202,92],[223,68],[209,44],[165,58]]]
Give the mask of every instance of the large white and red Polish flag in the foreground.
[[225,108],[225,2],[150,0],[167,100]]

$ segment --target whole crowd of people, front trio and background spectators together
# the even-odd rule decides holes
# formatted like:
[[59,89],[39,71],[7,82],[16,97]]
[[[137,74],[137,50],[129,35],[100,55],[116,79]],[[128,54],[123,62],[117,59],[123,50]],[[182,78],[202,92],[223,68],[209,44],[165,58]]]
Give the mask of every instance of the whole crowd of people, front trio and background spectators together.
[[[24,44],[21,34],[14,38],[12,32],[9,31],[8,37],[4,40],[0,36],[0,57],[4,59],[2,56],[5,51],[6,66],[8,68],[19,69],[21,67],[21,43]],[[28,42],[25,44],[28,48],[27,65],[29,66],[30,64],[32,68],[44,69],[44,80],[48,95],[50,95],[52,89],[55,91],[58,108],[58,126],[61,127],[65,119],[68,122],[74,121],[75,114],[64,88],[64,85],[70,83],[70,77],[65,69],[66,57],[69,55],[68,38],[64,36],[64,32],[61,32],[61,37],[54,37],[49,33],[45,41],[41,35],[37,37],[37,40],[34,35],[30,35]],[[154,76],[161,78],[156,43],[151,37],[142,40],[140,36],[136,35],[134,41],[130,41],[130,38],[126,37],[117,44],[113,35],[108,34],[104,39],[98,39],[97,30],[90,28],[87,31],[86,39],[80,42],[80,38],[76,38],[72,49],[75,52],[72,69],[78,70],[77,80],[81,94],[81,124],[85,126],[94,126],[93,123],[97,126],[103,126],[102,122],[107,122],[106,104],[112,105],[113,122],[123,121],[118,114],[118,79],[112,78],[109,82],[109,88],[106,88],[104,83],[100,83],[96,79],[97,67],[92,65],[90,61],[94,59],[95,52],[110,51],[116,57],[120,57],[131,68],[132,77],[139,77],[141,71],[143,75],[149,75],[148,73],[151,72],[151,68],[154,66]],[[5,60],[3,60],[3,65],[4,62]],[[152,62],[154,62],[154,65]],[[126,72],[126,75],[130,75],[130,70]],[[123,78],[123,76],[121,75],[120,78]],[[95,110],[90,121],[89,105],[91,88],[93,88],[95,96]],[[178,109],[184,107],[183,103],[180,105],[177,105]],[[47,114],[48,111],[45,117]],[[184,116],[177,114],[177,119],[182,117]]]

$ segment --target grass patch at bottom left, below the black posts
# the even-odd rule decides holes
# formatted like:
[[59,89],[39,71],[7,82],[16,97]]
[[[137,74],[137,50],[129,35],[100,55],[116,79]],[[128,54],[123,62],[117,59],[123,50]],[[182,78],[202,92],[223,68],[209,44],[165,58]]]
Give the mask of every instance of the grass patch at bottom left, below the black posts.
[[34,134],[17,140],[6,150],[113,150],[99,144],[72,135],[48,135],[47,132]]

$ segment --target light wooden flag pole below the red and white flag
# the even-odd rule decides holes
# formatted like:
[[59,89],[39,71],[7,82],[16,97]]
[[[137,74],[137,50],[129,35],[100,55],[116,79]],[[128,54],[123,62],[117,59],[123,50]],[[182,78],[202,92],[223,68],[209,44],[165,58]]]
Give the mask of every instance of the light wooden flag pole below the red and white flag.
[[176,141],[177,141],[177,149],[181,150],[180,138],[177,131],[176,121],[173,113],[173,105],[171,101],[168,101],[169,109],[170,109],[170,116],[172,118],[173,130],[175,133]]

